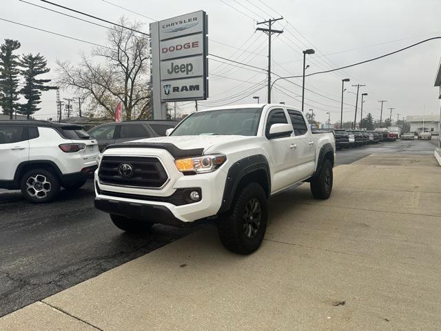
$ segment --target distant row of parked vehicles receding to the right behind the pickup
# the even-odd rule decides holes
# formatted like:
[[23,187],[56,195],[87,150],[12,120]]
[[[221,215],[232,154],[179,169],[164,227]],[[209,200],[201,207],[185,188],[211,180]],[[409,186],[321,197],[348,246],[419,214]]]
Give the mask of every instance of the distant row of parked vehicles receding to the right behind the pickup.
[[369,143],[379,143],[380,141],[394,141],[396,137],[389,137],[387,131],[365,131],[347,129],[319,129],[316,132],[332,132],[336,139],[337,149],[364,146]]

